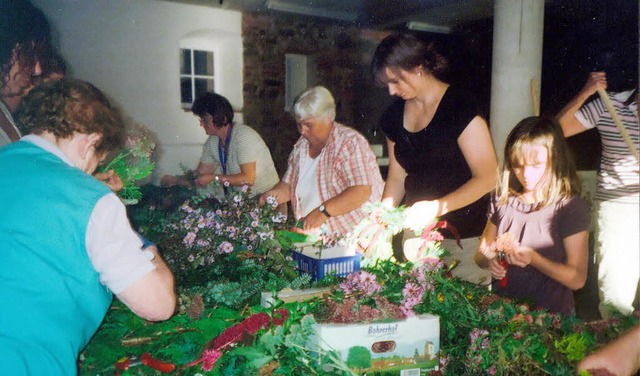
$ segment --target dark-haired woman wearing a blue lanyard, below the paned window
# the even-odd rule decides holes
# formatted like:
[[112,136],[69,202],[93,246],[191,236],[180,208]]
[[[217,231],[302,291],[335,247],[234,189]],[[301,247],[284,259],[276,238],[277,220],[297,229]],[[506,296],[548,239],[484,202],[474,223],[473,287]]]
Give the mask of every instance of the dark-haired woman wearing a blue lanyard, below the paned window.
[[[209,135],[196,168],[197,187],[221,181],[225,194],[229,187],[249,186],[259,195],[278,183],[278,173],[269,148],[253,128],[233,124],[233,107],[227,98],[205,93],[193,103],[191,111],[200,118],[200,126]],[[191,185],[184,177],[165,175],[164,187]]]

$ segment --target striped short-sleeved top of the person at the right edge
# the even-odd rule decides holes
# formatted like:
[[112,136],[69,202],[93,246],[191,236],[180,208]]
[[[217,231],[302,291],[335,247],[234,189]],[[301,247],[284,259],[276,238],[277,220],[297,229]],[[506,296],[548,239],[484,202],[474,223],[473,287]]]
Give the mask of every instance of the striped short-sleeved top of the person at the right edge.
[[[629,137],[638,147],[638,103],[634,90],[609,93]],[[629,104],[629,102],[632,102]],[[576,112],[576,119],[587,129],[596,127],[602,140],[602,156],[598,171],[598,189],[595,199],[626,203],[640,202],[640,175],[638,161],[631,154],[602,101],[597,98]]]

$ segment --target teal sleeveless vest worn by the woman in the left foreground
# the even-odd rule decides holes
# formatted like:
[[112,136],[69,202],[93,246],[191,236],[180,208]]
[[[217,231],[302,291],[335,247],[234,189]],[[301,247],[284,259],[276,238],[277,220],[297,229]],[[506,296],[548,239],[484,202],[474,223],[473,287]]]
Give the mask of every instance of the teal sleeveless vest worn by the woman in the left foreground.
[[73,375],[112,301],[85,247],[109,189],[28,141],[0,149],[0,364]]

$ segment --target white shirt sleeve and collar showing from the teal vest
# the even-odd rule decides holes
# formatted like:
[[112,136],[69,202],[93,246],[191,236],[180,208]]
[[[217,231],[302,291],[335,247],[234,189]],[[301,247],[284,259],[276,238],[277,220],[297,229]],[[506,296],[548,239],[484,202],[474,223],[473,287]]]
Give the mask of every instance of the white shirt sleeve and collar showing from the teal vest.
[[[22,138],[56,155],[73,166],[71,160],[48,140],[28,135]],[[154,270],[151,251],[142,250],[142,240],[129,225],[127,211],[118,196],[111,192],[98,200],[89,217],[85,238],[87,255],[100,274],[100,282],[114,294],[129,288]]]

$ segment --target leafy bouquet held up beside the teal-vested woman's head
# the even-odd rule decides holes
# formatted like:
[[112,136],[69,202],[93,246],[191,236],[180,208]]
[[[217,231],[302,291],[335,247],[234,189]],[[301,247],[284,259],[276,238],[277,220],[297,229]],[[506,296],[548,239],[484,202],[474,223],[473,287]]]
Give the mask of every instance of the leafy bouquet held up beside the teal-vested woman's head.
[[142,124],[127,127],[124,148],[113,158],[101,172],[114,170],[123,183],[118,196],[127,205],[136,204],[142,197],[138,182],[148,177],[154,168],[151,155],[155,150],[155,142],[149,130]]

